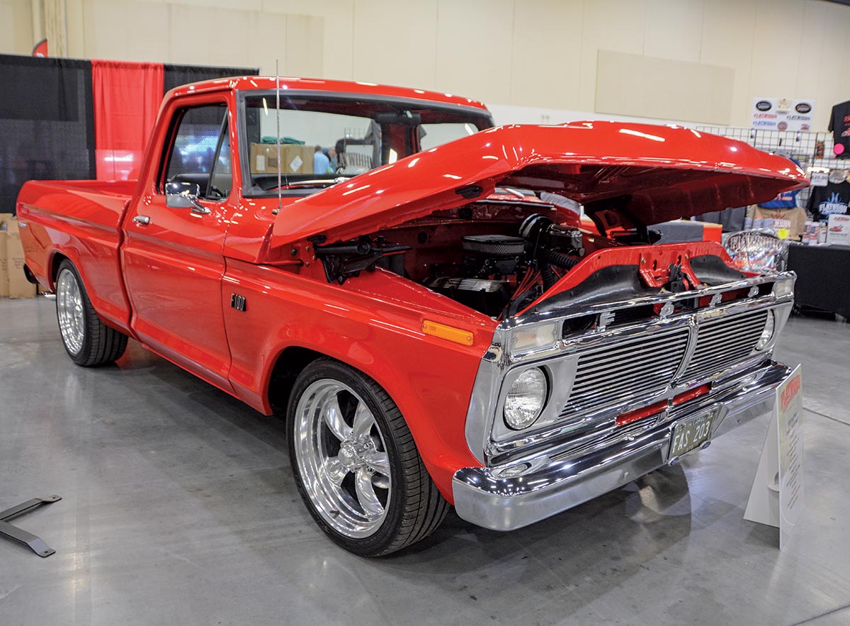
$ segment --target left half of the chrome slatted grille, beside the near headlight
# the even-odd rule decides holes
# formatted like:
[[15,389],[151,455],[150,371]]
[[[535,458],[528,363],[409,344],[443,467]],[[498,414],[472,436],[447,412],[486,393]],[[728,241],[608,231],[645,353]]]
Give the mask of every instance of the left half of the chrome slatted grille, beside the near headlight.
[[558,416],[579,417],[666,390],[682,363],[689,330],[677,327],[581,352],[570,399]]

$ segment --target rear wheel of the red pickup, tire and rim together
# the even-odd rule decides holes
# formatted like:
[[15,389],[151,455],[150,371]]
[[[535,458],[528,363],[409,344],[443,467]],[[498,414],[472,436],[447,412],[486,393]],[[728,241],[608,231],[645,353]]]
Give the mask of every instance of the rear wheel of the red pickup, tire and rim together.
[[127,349],[127,335],[100,321],[77,268],[68,259],[56,273],[56,318],[65,351],[77,365],[111,363]]

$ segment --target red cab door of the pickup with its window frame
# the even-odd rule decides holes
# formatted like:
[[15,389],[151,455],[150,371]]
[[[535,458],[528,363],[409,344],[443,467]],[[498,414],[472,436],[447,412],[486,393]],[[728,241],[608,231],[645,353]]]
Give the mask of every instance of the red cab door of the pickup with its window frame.
[[[172,119],[183,100],[166,101],[161,122]],[[232,105],[232,94],[206,94],[190,100],[192,105]],[[235,127],[234,122],[231,120],[229,128]],[[211,213],[201,215],[188,208],[166,206],[156,177],[167,129],[167,123],[156,128],[140,179],[144,192],[130,202],[122,222],[122,268],[133,305],[131,327],[135,337],[152,350],[232,392],[220,293],[224,236],[233,208],[226,200],[204,201],[201,203]],[[235,160],[231,156],[231,161]],[[150,222],[134,222],[140,215]]]

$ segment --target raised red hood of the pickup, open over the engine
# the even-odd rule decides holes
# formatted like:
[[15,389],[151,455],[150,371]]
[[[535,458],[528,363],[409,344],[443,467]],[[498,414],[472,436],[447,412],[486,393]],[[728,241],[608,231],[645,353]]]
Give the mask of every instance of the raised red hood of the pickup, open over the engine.
[[496,186],[553,191],[606,227],[653,225],[766,202],[808,185],[800,168],[734,139],[678,126],[503,126],[419,152],[281,208],[269,252],[310,236],[344,241]]

